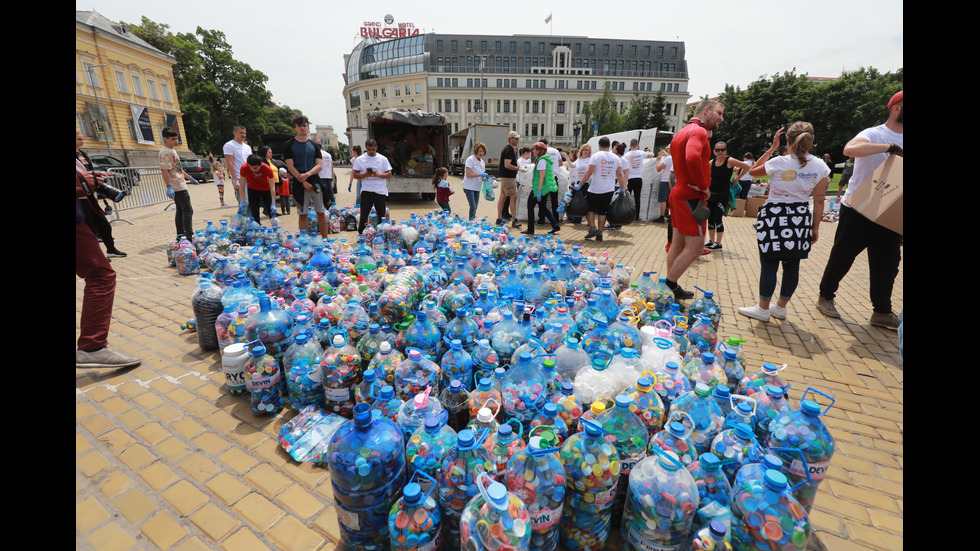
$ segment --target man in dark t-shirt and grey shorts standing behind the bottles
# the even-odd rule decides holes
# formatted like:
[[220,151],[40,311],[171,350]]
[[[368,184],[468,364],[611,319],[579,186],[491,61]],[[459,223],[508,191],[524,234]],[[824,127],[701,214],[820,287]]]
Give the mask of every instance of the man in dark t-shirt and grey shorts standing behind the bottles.
[[303,115],[293,117],[296,136],[286,140],[283,160],[292,180],[293,198],[299,213],[299,229],[306,231],[306,209],[316,212],[316,224],[320,235],[327,237],[327,215],[323,209],[323,193],[320,188],[320,171],[323,154],[320,145],[310,139],[310,121]]

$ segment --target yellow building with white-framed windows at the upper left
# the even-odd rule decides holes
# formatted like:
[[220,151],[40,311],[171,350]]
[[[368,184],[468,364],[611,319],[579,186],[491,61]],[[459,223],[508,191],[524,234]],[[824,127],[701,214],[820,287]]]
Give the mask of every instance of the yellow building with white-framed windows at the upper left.
[[[129,166],[156,166],[161,130],[183,136],[172,55],[123,24],[94,11],[75,11],[75,130],[83,150],[107,153]],[[181,157],[191,157],[182,140]]]

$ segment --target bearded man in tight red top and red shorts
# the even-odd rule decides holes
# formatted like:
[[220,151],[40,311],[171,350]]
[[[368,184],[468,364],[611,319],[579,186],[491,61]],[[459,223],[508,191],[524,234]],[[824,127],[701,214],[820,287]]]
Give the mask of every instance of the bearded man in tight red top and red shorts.
[[724,120],[725,106],[717,101],[705,100],[698,104],[687,126],[670,142],[677,183],[667,199],[670,205],[671,225],[679,234],[667,252],[667,286],[674,291],[677,300],[694,296],[677,284],[677,280],[694,259],[704,251],[705,222],[694,220],[694,210],[704,204],[711,184],[711,132]]

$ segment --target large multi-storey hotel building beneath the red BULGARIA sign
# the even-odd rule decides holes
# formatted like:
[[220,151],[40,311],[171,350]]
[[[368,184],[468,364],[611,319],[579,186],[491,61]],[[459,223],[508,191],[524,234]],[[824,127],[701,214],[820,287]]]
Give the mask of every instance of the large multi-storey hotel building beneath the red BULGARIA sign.
[[683,42],[551,35],[426,34],[366,38],[345,56],[349,128],[388,108],[444,114],[453,131],[502,124],[558,147],[576,141],[582,108],[606,84],[626,113],[634,94],[667,98],[681,126],[688,71]]

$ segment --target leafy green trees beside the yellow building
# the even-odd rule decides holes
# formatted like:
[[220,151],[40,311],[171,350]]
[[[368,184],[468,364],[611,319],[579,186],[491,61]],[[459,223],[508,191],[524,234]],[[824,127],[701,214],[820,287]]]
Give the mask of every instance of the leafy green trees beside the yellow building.
[[197,153],[220,156],[232,128],[242,124],[249,142],[261,134],[291,133],[299,111],[276,106],[266,89],[269,78],[234,58],[224,33],[198,27],[194,33],[170,32],[170,26],[143,17],[130,30],[159,50],[173,55],[174,87],[183,112],[184,139]]

